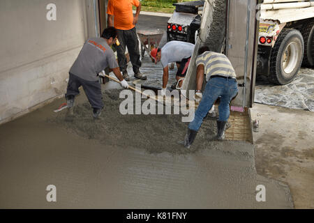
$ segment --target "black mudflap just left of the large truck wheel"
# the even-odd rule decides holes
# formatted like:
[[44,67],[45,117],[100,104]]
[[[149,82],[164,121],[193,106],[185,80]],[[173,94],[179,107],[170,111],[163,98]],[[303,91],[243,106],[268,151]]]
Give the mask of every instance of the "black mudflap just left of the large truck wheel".
[[257,47],[257,75],[269,76],[271,46]]

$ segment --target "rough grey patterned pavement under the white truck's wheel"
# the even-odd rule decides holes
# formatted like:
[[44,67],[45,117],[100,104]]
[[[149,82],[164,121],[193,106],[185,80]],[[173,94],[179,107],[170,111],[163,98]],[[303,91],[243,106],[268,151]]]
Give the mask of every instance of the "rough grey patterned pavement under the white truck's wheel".
[[269,84],[266,78],[257,77],[255,102],[314,112],[314,70],[301,68],[297,77],[285,85]]

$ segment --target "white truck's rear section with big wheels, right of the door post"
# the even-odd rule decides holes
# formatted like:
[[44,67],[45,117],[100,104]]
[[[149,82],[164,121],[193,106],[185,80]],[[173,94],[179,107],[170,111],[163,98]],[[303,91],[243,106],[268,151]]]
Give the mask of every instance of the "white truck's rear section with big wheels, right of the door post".
[[264,0],[258,9],[257,75],[288,84],[302,63],[314,66],[314,1]]

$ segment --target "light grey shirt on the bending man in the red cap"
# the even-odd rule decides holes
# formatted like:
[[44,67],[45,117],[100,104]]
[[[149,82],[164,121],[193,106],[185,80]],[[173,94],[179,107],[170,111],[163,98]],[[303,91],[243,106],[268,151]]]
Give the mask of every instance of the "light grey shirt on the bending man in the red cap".
[[168,66],[168,63],[181,62],[183,59],[192,56],[195,45],[182,41],[170,41],[161,49],[160,62],[163,68]]

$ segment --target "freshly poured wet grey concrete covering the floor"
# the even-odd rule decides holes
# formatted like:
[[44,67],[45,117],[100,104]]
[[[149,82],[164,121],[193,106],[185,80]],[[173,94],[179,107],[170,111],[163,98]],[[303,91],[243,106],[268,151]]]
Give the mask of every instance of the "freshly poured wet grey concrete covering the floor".
[[[0,208],[293,207],[287,186],[256,174],[253,145],[209,141],[214,120],[186,150],[179,116],[122,116],[114,91],[104,100],[103,122],[82,93],[73,123],[52,112],[62,99],[0,126]],[[257,185],[266,202],[255,200]]]

